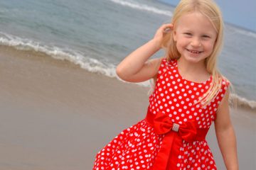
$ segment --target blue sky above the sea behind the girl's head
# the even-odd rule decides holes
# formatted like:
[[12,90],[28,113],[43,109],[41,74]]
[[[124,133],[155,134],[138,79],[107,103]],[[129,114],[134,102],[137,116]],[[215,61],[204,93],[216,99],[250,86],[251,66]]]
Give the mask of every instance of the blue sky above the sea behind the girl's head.
[[[179,0],[161,0],[176,6]],[[256,32],[255,0],[215,0],[223,13],[224,21]]]

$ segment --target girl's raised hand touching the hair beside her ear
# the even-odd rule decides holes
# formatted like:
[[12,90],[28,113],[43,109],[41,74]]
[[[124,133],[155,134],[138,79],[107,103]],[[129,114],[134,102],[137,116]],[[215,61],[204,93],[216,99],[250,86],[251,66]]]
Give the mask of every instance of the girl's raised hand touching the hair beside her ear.
[[164,35],[166,35],[166,33],[170,33],[173,28],[174,25],[172,23],[166,23],[156,30],[153,40],[156,41],[159,47],[161,47],[161,42],[163,41]]

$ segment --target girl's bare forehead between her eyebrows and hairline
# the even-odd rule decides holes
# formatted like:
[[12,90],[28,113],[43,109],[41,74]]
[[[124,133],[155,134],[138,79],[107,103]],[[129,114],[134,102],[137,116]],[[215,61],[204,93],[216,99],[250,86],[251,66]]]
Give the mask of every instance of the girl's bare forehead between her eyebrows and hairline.
[[200,12],[186,13],[178,19],[177,29],[216,33],[213,23]]

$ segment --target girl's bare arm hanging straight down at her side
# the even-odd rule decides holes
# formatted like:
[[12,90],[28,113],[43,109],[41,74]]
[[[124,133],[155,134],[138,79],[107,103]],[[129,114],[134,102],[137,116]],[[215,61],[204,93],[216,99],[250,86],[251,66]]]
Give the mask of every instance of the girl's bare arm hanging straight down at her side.
[[228,170],[238,170],[238,154],[235,139],[235,131],[230,120],[228,106],[230,90],[227,89],[223,100],[220,103],[215,120],[215,132],[221,154]]

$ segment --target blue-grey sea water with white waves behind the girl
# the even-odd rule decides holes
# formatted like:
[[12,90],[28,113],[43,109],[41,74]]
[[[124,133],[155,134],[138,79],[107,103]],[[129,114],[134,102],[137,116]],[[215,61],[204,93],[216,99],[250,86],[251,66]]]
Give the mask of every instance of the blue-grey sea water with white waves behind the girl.
[[[173,10],[153,0],[0,0],[0,45],[45,52],[116,77],[117,64],[151,40]],[[255,54],[256,34],[226,24],[219,68],[239,98],[253,107]]]

